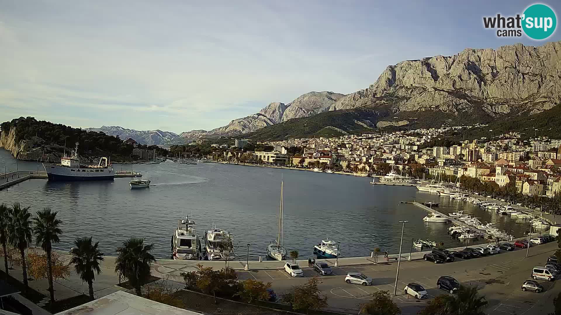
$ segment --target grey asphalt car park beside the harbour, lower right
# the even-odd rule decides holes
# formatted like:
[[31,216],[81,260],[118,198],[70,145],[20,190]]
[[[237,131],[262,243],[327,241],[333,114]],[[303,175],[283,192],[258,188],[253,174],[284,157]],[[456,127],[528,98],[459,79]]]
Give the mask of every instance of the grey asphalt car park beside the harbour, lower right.
[[[484,294],[489,302],[486,313],[489,314],[536,314],[551,310],[553,297],[561,291],[557,281],[539,280],[546,291],[533,293],[522,292],[520,286],[524,280],[530,279],[531,268],[543,266],[547,256],[557,249],[557,243],[543,244],[530,248],[530,257],[526,258],[526,249],[513,252],[502,252],[493,256],[460,260],[435,265],[426,261],[401,263],[397,296],[394,301],[402,308],[403,314],[416,314],[426,302],[436,295],[445,293],[436,289],[436,280],[443,275],[456,278],[465,285],[477,286],[480,294]],[[397,263],[379,263],[353,267],[333,268],[334,274],[321,276],[319,288],[327,295],[330,307],[337,309],[357,309],[358,304],[369,300],[370,294],[386,290],[393,294],[396,280]],[[344,276],[347,272],[361,272],[374,279],[374,285],[362,286],[347,284]],[[257,279],[272,282],[278,295],[291,289],[293,285],[301,285],[308,277],[318,274],[311,269],[304,270],[304,277],[291,277],[282,270],[237,271],[240,279]],[[403,288],[409,282],[417,282],[427,289],[429,299],[416,300],[403,294]],[[357,310],[358,311],[358,310]],[[544,312],[542,312],[544,311]]]

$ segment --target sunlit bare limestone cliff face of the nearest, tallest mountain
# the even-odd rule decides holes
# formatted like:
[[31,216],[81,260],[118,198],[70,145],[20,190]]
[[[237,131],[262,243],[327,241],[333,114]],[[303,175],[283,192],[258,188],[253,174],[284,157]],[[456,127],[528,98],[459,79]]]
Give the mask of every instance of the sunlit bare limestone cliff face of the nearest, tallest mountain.
[[344,96],[329,110],[390,105],[394,113],[482,110],[536,114],[561,103],[561,41],[465,49],[453,56],[388,66],[367,89]]

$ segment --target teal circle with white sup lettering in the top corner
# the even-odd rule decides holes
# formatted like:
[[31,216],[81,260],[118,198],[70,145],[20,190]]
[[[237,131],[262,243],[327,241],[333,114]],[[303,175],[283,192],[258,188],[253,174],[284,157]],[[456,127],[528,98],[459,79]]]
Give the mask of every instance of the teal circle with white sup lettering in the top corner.
[[557,17],[545,4],[532,4],[524,11],[522,29],[531,39],[546,39],[555,31]]

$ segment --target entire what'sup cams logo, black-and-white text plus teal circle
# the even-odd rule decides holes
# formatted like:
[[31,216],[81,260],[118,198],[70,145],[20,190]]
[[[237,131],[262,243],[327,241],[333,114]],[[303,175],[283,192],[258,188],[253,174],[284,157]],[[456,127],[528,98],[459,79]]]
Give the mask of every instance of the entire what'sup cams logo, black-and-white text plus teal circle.
[[550,7],[537,3],[527,7],[521,15],[483,17],[483,26],[496,29],[498,37],[520,37],[523,31],[531,39],[542,40],[555,32],[557,16]]

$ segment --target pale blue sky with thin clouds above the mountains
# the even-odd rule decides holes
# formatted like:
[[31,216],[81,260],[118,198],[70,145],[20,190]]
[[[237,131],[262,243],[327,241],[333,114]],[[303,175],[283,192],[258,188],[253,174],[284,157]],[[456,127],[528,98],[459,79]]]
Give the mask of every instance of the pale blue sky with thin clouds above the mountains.
[[[180,133],[309,91],[355,92],[389,64],[498,38],[528,1],[0,0],[0,121]],[[557,13],[561,3],[549,1]]]

